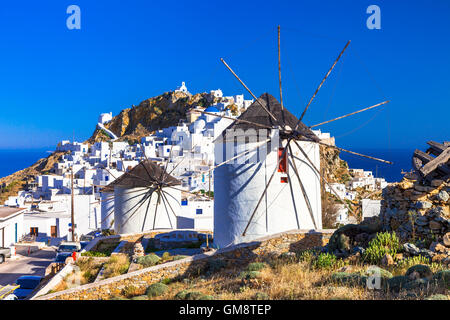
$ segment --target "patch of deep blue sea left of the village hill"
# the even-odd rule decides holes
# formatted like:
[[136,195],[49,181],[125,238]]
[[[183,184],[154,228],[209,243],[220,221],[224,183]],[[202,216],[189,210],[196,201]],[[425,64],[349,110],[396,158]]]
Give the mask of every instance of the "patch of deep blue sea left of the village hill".
[[0,149],[0,178],[31,166],[50,153],[45,149]]

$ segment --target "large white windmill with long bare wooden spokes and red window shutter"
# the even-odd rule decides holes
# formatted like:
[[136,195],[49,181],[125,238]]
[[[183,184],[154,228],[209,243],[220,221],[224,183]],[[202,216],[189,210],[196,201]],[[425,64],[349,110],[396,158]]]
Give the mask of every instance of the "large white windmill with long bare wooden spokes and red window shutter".
[[[349,44],[350,41],[333,62],[299,119],[283,105],[280,27],[278,27],[278,73],[281,103],[267,93],[257,98],[225,60],[221,59],[254,98],[254,103],[239,118],[233,119],[234,123],[228,127],[228,130],[267,129],[268,135],[259,142],[250,144],[244,152],[234,148],[233,155],[237,153],[235,156],[213,168],[215,170],[214,241],[218,246],[228,246],[258,236],[290,230],[293,229],[293,225],[299,229],[321,228],[320,181],[324,181],[336,197],[352,211],[321,174],[319,145],[392,164],[390,161],[325,144],[310,130],[313,127],[384,105],[389,101],[309,127],[302,123],[311,103]],[[199,112],[208,114],[204,111]],[[225,143],[227,134],[226,129],[222,135]],[[234,136],[232,139],[235,140],[228,142],[236,144],[237,140],[245,141],[245,134]],[[270,143],[267,144],[267,142]],[[280,148],[271,150],[272,144]],[[257,159],[253,163],[246,163],[242,159],[232,162],[244,156],[248,158],[265,145],[268,148],[266,158]],[[274,179],[276,176],[278,178]],[[274,184],[277,180],[279,182]],[[305,212],[307,212],[306,215]]]

